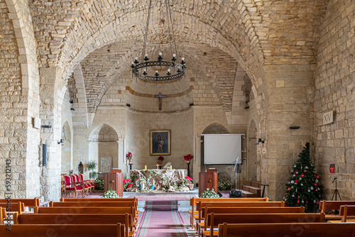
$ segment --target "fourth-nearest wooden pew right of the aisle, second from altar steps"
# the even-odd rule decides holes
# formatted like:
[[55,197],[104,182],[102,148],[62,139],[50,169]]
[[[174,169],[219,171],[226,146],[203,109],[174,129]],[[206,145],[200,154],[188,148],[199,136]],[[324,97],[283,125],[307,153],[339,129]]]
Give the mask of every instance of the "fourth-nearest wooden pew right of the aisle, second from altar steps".
[[[196,226],[203,219],[202,209],[207,207],[285,207],[285,202],[197,202],[196,209],[199,212],[196,220]],[[197,229],[198,231],[198,229]]]

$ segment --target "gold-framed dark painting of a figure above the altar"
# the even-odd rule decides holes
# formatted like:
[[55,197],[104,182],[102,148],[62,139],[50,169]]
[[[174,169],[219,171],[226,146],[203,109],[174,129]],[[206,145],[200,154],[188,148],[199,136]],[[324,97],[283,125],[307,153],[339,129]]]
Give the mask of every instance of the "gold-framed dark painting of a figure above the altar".
[[171,155],[170,130],[151,130],[151,155]]

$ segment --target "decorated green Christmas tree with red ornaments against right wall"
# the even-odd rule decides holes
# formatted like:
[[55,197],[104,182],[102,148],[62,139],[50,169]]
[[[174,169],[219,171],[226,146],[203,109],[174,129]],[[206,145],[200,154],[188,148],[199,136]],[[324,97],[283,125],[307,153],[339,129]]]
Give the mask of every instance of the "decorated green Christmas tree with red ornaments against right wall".
[[288,206],[305,206],[306,212],[315,212],[320,204],[320,176],[315,173],[315,166],[310,160],[310,148],[307,143],[299,159],[293,165],[291,177],[286,184],[285,203]]

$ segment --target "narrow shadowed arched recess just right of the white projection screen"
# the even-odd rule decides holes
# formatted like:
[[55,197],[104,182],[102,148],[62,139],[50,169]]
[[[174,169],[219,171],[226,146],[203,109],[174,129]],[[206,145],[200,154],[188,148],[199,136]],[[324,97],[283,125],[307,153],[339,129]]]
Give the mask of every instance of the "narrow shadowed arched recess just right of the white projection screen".
[[260,180],[260,162],[257,159],[257,145],[258,143],[257,128],[255,121],[251,120],[248,130],[248,148],[247,148],[247,180]]

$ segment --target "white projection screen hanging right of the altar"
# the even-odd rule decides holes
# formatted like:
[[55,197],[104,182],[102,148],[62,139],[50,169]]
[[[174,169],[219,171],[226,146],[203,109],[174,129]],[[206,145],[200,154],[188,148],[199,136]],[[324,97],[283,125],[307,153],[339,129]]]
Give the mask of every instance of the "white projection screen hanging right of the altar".
[[241,163],[241,137],[244,134],[202,134],[204,136],[204,165]]

